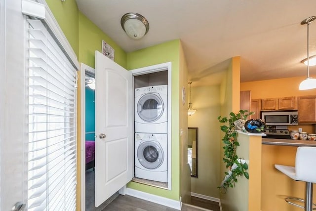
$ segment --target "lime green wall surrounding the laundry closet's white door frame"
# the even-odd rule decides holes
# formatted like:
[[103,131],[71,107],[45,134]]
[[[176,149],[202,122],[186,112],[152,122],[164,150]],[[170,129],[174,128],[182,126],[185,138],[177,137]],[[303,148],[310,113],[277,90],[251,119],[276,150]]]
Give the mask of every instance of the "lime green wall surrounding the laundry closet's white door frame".
[[127,53],[127,69],[136,69],[140,67],[146,67],[150,65],[172,62],[172,102],[171,102],[171,147],[172,147],[172,187],[171,191],[148,186],[136,182],[129,182],[128,187],[139,191],[151,193],[154,195],[166,197],[173,200],[179,200],[180,198],[180,135],[179,135],[179,47],[180,40],[174,40],[158,44],[152,47],[144,48],[134,52]]

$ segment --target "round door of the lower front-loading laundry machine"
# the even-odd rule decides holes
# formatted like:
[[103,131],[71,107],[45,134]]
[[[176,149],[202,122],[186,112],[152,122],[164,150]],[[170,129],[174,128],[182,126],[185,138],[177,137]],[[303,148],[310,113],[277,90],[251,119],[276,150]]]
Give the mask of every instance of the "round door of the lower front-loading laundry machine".
[[139,163],[146,169],[157,169],[163,162],[163,150],[153,141],[141,143],[137,149]]

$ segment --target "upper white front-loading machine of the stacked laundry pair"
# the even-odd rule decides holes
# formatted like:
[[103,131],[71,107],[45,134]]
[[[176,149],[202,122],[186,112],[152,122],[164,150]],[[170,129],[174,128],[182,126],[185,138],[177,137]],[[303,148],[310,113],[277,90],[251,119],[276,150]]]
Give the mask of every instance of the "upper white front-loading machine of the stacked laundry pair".
[[168,85],[135,88],[135,132],[168,133]]

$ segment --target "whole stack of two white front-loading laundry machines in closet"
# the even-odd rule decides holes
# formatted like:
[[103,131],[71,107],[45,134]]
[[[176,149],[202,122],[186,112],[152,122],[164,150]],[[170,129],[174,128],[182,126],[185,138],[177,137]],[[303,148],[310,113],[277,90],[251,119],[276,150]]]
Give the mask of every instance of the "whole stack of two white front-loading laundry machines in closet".
[[168,86],[135,89],[135,177],[168,182]]

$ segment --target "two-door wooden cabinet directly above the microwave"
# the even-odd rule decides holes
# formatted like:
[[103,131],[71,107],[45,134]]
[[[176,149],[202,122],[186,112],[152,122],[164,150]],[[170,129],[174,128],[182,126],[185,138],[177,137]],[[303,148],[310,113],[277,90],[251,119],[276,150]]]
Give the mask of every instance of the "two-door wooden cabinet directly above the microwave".
[[261,110],[296,110],[296,97],[261,99]]

